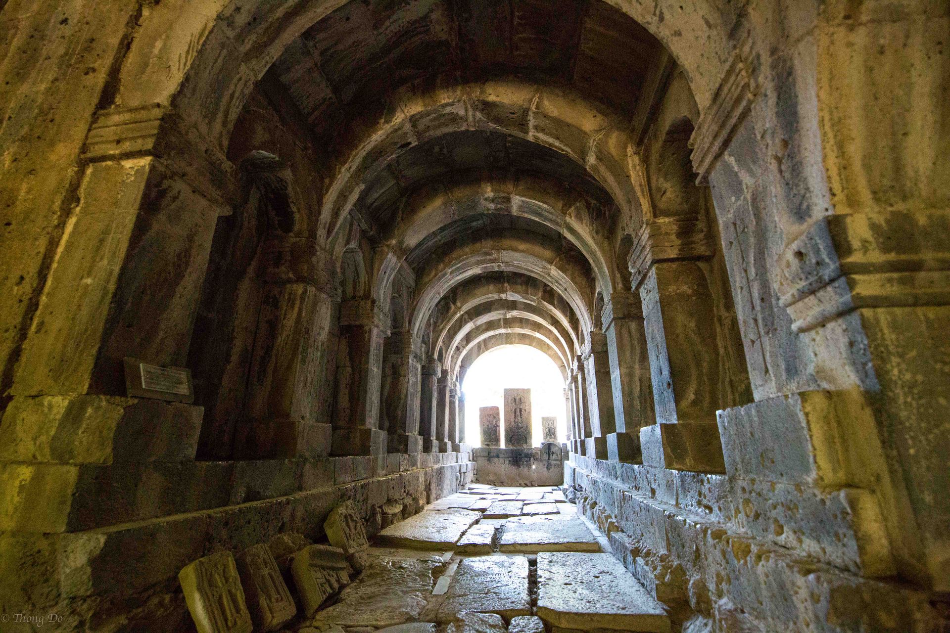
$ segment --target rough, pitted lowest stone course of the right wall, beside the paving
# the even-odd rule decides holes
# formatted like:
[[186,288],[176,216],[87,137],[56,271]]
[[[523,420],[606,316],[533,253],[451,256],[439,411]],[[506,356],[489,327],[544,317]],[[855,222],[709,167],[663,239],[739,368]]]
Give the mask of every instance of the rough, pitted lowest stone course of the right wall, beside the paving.
[[[572,463],[567,467],[577,469]],[[791,549],[635,495],[616,482],[578,473],[570,477],[583,482],[575,491],[580,512],[609,535],[615,555],[674,612],[720,619],[730,605],[743,605],[750,630],[768,631],[930,633],[939,621],[929,603],[934,596],[926,592],[795,556]],[[615,514],[618,501],[623,512]],[[704,553],[697,557],[697,551]],[[815,629],[814,624],[832,626]]]

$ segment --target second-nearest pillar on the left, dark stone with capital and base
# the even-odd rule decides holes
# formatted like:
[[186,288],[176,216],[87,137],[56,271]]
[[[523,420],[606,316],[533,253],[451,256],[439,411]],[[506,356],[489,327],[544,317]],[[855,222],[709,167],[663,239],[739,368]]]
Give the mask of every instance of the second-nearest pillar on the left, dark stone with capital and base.
[[262,249],[260,270],[266,286],[236,456],[326,456],[332,427],[317,421],[314,391],[329,378],[320,358],[335,301],[329,258],[312,239],[277,234]]

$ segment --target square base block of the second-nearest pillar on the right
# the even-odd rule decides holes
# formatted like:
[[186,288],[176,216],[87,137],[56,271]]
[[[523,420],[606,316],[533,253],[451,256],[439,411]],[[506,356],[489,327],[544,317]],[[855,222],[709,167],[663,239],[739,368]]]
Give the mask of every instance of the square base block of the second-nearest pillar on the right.
[[643,464],[674,471],[726,473],[717,424],[680,422],[640,429]]

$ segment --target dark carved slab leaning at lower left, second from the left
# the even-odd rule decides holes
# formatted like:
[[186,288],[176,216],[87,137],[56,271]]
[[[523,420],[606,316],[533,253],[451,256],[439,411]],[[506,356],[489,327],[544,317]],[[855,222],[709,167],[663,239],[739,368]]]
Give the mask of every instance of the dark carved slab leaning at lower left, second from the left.
[[290,622],[296,605],[271,550],[261,543],[237,554],[235,562],[255,629],[276,631]]

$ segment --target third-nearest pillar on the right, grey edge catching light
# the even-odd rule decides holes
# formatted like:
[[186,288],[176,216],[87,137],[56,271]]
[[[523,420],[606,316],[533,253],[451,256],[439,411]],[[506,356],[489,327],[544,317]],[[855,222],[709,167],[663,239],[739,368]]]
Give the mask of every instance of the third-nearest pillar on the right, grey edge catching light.
[[656,423],[656,414],[640,298],[626,290],[614,292],[603,307],[602,323],[617,427],[607,435],[607,456],[614,461],[642,463],[640,428]]

